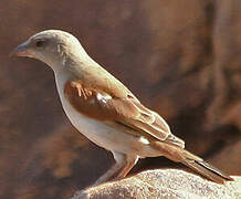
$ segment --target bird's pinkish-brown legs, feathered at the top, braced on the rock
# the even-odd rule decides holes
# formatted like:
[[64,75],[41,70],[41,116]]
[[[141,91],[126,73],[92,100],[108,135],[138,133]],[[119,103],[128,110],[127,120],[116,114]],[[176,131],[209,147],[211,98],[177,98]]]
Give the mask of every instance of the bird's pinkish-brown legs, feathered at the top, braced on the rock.
[[112,168],[107,170],[103,176],[101,176],[95,181],[94,186],[106,182],[108,180],[124,178],[138,160],[137,156],[127,156],[116,151],[113,153],[113,155],[116,160],[115,165],[112,166]]

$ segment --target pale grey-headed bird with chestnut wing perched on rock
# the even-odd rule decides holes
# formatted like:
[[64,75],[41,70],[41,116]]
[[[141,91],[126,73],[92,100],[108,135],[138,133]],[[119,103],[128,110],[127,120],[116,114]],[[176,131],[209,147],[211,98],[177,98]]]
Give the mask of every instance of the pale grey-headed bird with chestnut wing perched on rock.
[[30,36],[10,55],[49,65],[71,124],[91,142],[112,151],[115,164],[94,186],[124,178],[139,158],[159,156],[181,163],[218,184],[233,180],[186,150],[185,142],[171,133],[165,119],[96,63],[73,34],[45,30]]

